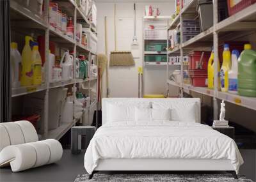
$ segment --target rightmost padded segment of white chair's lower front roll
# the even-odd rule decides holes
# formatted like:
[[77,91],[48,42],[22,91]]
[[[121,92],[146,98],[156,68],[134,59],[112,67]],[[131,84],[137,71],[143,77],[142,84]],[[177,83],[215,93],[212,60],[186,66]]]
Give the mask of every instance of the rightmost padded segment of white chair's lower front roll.
[[50,160],[47,164],[56,162],[61,159],[63,149],[60,142],[58,142],[58,140],[48,139],[48,140],[42,140],[42,142],[45,142],[45,144],[49,146],[49,149],[51,151]]

